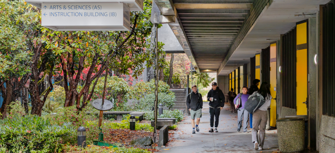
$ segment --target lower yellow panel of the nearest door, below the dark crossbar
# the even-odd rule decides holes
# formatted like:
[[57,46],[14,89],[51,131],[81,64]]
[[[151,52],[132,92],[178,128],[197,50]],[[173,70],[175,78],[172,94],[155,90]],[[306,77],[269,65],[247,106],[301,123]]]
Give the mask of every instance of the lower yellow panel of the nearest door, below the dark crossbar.
[[297,115],[307,115],[307,105],[304,104],[307,100],[308,90],[308,71],[307,71],[307,49],[296,51],[296,105]]

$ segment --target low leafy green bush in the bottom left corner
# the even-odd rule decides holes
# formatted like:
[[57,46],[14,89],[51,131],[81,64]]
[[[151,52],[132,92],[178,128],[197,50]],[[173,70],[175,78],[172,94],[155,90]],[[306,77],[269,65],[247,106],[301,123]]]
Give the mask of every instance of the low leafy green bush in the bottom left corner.
[[61,153],[76,134],[71,123],[53,125],[36,115],[5,118],[0,125],[0,148],[6,153]]

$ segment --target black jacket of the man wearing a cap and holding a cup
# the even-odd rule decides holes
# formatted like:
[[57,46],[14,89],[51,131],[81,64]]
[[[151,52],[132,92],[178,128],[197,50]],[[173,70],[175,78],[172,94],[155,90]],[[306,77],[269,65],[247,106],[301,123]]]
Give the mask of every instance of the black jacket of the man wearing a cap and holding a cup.
[[[213,101],[210,101],[209,98],[213,97]],[[207,100],[209,101],[209,106],[213,107],[213,108],[219,108],[219,107],[223,107],[224,106],[224,95],[222,90],[220,89],[216,89],[213,90],[211,89],[208,94],[207,94]]]

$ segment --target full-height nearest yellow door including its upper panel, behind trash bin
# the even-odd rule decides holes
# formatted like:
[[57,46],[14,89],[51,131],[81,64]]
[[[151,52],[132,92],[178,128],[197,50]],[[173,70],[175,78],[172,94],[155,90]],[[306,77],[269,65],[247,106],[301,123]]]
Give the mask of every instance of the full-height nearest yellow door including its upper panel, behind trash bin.
[[296,111],[297,115],[307,115],[308,63],[307,63],[307,22],[296,26]]

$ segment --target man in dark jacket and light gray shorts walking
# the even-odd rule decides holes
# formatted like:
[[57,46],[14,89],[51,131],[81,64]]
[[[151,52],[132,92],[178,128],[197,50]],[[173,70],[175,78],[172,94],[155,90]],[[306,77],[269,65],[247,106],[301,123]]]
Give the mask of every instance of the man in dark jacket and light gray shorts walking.
[[[202,96],[200,93],[197,92],[197,86],[193,85],[192,86],[192,91],[190,94],[188,94],[187,96],[187,100],[186,100],[186,105],[187,105],[187,109],[190,111],[191,113],[191,124],[192,124],[192,134],[196,133],[196,129],[197,128],[197,132],[200,132],[199,130],[199,123],[200,123],[200,118],[201,118],[201,109],[202,109]],[[197,117],[197,125],[195,126],[194,120]]]

